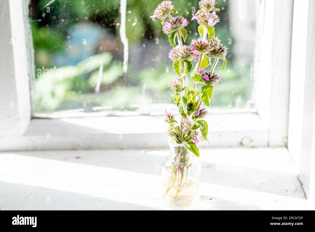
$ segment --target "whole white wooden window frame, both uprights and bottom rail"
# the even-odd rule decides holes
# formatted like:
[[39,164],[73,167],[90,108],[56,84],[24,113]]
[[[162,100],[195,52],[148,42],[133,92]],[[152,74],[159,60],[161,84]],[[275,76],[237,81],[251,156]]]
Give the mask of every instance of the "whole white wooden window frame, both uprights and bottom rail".
[[[34,78],[34,68],[32,44],[26,39],[31,38],[27,4],[27,0],[0,3],[10,9],[0,14],[0,26],[6,32],[0,37],[6,54],[0,63],[5,80],[0,86],[0,150],[167,147],[163,116],[31,118],[29,80]],[[210,113],[206,118],[210,144],[201,146],[287,145],[293,0],[261,0],[258,5],[255,111]],[[268,17],[264,17],[266,11]],[[283,19],[289,19],[285,27]],[[279,37],[286,39],[277,41]],[[275,67],[281,70],[276,75]],[[279,90],[284,94],[278,96]]]

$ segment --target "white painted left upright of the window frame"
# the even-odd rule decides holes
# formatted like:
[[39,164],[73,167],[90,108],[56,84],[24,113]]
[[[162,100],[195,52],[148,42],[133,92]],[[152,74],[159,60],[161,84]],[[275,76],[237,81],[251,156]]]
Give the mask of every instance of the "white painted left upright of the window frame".
[[0,136],[21,135],[31,119],[22,0],[0,1]]

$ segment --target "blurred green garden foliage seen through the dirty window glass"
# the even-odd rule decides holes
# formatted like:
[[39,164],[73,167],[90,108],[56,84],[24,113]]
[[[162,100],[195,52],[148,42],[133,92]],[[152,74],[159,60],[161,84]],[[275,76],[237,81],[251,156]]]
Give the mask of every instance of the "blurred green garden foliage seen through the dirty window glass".
[[[169,99],[173,102],[170,95],[172,91],[168,86],[176,76],[172,62],[167,57],[171,47],[168,45],[168,37],[161,30],[159,20],[154,22],[149,18],[161,0],[127,1],[129,66],[123,75],[120,75],[123,63],[123,45],[119,35],[120,1],[56,0],[46,6],[48,2],[32,0],[30,3],[35,72],[43,66],[62,68],[64,78],[36,78],[35,95],[32,97],[35,106],[33,112],[82,108],[82,102],[88,103],[87,111],[93,106],[136,110],[134,104],[144,104],[150,98]],[[198,9],[198,1],[173,2],[179,14],[189,21],[186,27],[187,42],[196,39],[198,25],[190,19],[192,7]],[[229,50],[227,68],[219,70],[219,63],[216,69],[222,81],[214,88],[211,106],[226,107],[229,102],[234,106],[236,99],[240,98],[242,104],[238,104],[238,107],[245,107],[251,93],[249,71],[247,75],[240,76],[234,67],[233,45],[227,44],[228,39],[234,40],[229,29],[228,1],[217,0],[216,7],[222,10],[219,13],[221,22],[215,26],[215,35]],[[80,34],[82,28],[91,30]],[[85,46],[82,40],[86,37]],[[155,44],[156,39],[159,39],[159,45]],[[144,54],[147,47],[143,45],[148,48],[154,45],[150,51],[162,47],[165,52],[159,57],[160,61],[152,62],[154,54]],[[100,93],[95,94],[100,63],[103,63]],[[247,64],[245,68],[249,69],[249,66]],[[189,74],[187,76],[190,77]],[[188,84],[192,84],[190,78]]]

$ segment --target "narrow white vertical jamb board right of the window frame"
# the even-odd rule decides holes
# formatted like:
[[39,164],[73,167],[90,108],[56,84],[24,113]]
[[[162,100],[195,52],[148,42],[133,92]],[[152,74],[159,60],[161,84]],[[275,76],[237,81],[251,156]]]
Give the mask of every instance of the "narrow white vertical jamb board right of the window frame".
[[[301,14],[301,5],[305,14]],[[300,164],[306,74],[308,0],[295,1],[292,25],[288,150]]]

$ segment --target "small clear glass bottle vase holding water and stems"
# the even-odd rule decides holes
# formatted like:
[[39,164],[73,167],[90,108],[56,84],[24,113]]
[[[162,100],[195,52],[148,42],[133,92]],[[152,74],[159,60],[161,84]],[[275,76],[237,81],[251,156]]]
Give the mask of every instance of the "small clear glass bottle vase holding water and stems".
[[193,209],[199,203],[200,172],[199,158],[183,144],[169,140],[170,155],[162,168],[163,201],[171,209]]

